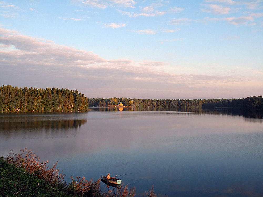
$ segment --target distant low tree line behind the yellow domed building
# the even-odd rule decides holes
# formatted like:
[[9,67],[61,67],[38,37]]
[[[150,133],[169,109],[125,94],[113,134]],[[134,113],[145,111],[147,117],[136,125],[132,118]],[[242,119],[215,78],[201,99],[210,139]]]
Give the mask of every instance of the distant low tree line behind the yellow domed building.
[[175,110],[215,108],[240,108],[243,110],[263,111],[262,96],[250,96],[239,99],[138,99],[138,98],[88,98],[90,107],[108,107],[122,102],[127,107],[172,108]]

